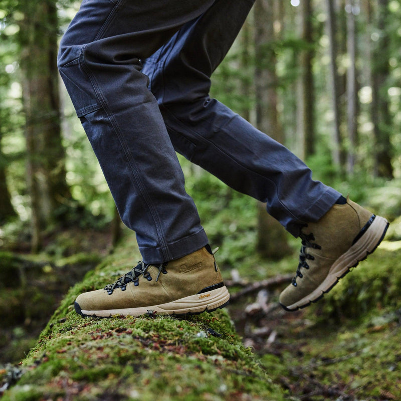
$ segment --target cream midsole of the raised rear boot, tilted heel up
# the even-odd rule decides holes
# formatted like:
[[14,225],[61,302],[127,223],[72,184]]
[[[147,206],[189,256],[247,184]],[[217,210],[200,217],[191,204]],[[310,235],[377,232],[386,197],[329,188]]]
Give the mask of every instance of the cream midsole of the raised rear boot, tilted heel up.
[[312,293],[298,302],[287,306],[288,309],[298,309],[319,298],[322,293],[331,288],[350,267],[363,260],[368,253],[373,252],[383,235],[388,222],[380,216],[376,216],[371,226],[366,230],[359,240],[342,254],[330,267],[329,273],[324,281]]

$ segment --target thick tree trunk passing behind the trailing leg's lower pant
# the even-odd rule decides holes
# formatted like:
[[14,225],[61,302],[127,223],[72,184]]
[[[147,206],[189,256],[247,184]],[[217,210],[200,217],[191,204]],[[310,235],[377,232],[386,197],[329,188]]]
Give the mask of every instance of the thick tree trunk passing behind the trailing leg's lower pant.
[[[255,84],[256,125],[279,142],[284,141],[277,113],[277,76],[274,41],[274,2],[257,0],[255,18]],[[282,226],[266,213],[266,207],[258,203],[257,250],[267,258],[280,258],[289,253],[287,234]]]

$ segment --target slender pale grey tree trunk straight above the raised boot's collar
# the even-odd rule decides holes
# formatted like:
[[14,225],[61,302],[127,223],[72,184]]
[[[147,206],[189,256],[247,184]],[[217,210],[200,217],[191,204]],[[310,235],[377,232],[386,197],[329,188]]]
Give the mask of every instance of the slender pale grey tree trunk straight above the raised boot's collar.
[[354,0],[346,0],[345,11],[347,15],[347,51],[349,57],[347,70],[347,173],[352,174],[355,165],[355,148],[357,143],[356,9]]

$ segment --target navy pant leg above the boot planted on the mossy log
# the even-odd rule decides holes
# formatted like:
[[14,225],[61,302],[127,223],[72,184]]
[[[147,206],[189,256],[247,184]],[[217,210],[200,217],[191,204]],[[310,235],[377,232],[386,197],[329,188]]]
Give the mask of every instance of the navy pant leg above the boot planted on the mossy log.
[[60,74],[147,263],[179,258],[208,239],[140,59],[213,3],[85,0],[61,42]]

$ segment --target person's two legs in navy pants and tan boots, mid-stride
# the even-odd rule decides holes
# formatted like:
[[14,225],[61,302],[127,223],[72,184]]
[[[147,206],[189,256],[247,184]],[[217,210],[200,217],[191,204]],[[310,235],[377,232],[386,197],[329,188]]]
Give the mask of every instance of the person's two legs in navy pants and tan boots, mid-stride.
[[83,315],[191,314],[223,307],[223,284],[175,151],[302,239],[280,302],[318,300],[382,240],[387,222],[312,180],[286,147],[209,96],[253,1],[87,1],[58,66],[143,262],[76,300]]

